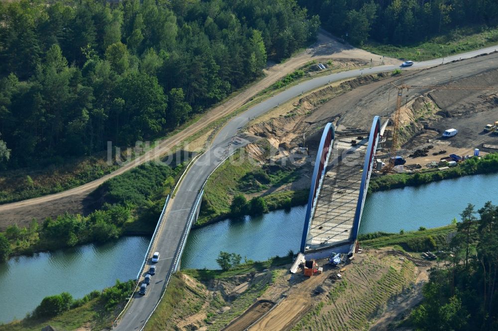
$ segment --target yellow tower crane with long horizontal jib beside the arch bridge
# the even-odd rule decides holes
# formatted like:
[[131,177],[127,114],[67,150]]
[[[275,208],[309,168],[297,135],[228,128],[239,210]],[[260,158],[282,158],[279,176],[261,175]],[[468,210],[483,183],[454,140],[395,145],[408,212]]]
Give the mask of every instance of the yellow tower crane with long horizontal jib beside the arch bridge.
[[[394,116],[392,118],[392,146],[389,151],[389,163],[386,165],[387,171],[390,171],[394,167],[396,151],[398,148],[398,129],[399,129],[399,117],[401,114],[401,102],[403,96],[403,90],[406,89],[406,92],[410,88],[423,88],[423,89],[475,89],[475,90],[495,90],[494,86],[448,86],[448,85],[406,85],[403,84],[401,86],[397,86],[391,83],[397,90],[398,95],[396,99],[396,110],[394,111]],[[408,97],[408,95],[407,95]]]

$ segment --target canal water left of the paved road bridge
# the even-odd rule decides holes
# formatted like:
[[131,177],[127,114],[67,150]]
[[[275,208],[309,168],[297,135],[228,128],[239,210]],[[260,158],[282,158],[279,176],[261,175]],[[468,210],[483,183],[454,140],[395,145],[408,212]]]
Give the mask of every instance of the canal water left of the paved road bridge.
[[93,290],[134,279],[149,237],[122,237],[104,245],[84,245],[18,256],[0,263],[0,323],[21,320],[49,295],[82,298]]

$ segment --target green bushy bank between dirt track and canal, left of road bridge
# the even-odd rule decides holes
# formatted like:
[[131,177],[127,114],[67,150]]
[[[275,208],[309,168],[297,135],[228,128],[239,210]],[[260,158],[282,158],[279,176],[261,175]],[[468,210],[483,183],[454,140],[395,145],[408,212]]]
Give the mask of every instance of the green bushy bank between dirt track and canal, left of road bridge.
[[[151,234],[166,196],[184,164],[174,168],[147,163],[102,184],[93,195],[97,210],[87,216],[59,215],[29,227],[10,225],[0,233],[0,258],[87,243],[104,243],[124,234]],[[8,245],[7,245],[8,244]]]

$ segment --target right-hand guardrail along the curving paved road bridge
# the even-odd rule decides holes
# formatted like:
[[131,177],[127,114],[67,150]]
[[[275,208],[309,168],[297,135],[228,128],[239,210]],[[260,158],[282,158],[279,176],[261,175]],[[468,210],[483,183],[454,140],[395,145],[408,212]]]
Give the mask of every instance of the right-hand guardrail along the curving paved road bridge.
[[[235,152],[237,152],[237,151],[235,151]],[[189,218],[188,218],[188,222],[185,225],[185,228],[183,229],[182,239],[180,240],[180,244],[178,245],[178,248],[176,249],[175,259],[174,259],[173,263],[171,264],[171,267],[170,267],[170,269],[168,271],[168,274],[166,276],[166,282],[164,283],[164,286],[162,288],[161,297],[159,298],[159,301],[157,301],[157,304],[155,305],[154,309],[150,312],[149,316],[147,316],[147,319],[143,323],[143,326],[140,329],[140,331],[143,331],[143,329],[145,329],[145,325],[147,324],[147,322],[149,321],[150,317],[152,316],[152,314],[154,314],[155,310],[159,306],[159,303],[161,302],[162,298],[164,297],[164,293],[166,293],[166,287],[168,286],[168,283],[169,283],[169,280],[171,278],[171,275],[173,274],[173,272],[177,271],[178,261],[180,260],[180,258],[182,256],[183,248],[185,248],[185,242],[187,240],[187,236],[188,236],[188,234],[190,232],[190,228],[192,228],[192,224],[194,223],[194,217],[195,217],[195,214],[197,213],[197,208],[199,208],[200,203],[201,203],[201,199],[202,199],[202,195],[204,194],[204,186],[206,186],[206,183],[208,182],[208,179],[213,174],[213,172],[215,172],[216,169],[218,169],[218,167],[220,165],[222,165],[225,161],[227,161],[228,158],[230,158],[232,155],[234,155],[235,152],[233,152],[232,154],[230,154],[229,156],[227,156],[225,158],[225,160],[223,160],[223,162],[220,162],[220,164],[217,165],[214,168],[213,171],[211,171],[211,173],[208,175],[208,177],[206,178],[206,180],[202,184],[201,189],[199,190],[199,193],[197,193],[197,197],[195,198],[195,202],[194,202],[194,204],[192,206],[192,209],[190,210],[190,215],[189,215]],[[192,161],[194,161],[194,160],[192,160]],[[185,169],[185,171],[187,171],[187,169],[188,169],[188,167]],[[183,177],[183,175],[182,175],[182,177]]]

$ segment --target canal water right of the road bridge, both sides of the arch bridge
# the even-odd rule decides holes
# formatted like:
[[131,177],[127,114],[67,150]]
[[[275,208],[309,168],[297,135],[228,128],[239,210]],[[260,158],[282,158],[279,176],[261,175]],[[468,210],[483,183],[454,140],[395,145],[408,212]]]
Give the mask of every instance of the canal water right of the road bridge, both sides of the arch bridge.
[[[375,192],[367,196],[360,233],[397,233],[435,228],[451,223],[468,203],[481,208],[486,201],[498,204],[498,175],[474,175],[447,179],[418,187]],[[190,232],[182,257],[182,268],[219,268],[221,250],[242,257],[265,260],[299,250],[305,207],[289,212],[274,211],[252,220],[227,219]]]

